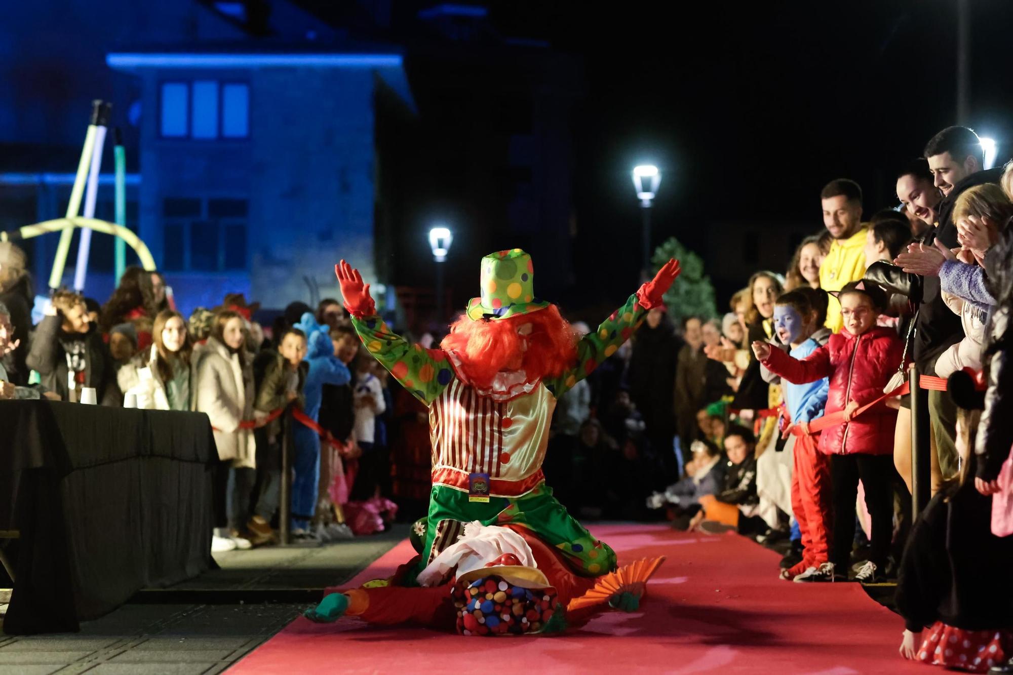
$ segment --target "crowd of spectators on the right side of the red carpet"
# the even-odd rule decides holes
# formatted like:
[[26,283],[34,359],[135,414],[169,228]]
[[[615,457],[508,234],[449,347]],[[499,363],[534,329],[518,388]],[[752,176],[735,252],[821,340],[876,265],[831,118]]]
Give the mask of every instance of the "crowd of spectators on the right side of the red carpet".
[[[652,310],[590,378],[577,441],[554,439],[576,448],[546,469],[564,504],[780,542],[785,581],[894,582],[906,658],[1013,656],[1013,162],[984,162],[971,130],[944,129],[869,218],[855,181],[828,182],[823,230],[720,319]],[[932,495],[914,522],[912,396]]]

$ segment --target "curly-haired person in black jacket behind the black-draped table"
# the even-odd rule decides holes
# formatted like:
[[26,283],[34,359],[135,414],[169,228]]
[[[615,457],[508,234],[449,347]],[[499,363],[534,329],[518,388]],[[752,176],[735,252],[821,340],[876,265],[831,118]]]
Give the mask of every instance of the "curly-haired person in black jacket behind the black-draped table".
[[102,405],[122,402],[112,357],[77,293],[58,291],[53,296],[46,317],[35,326],[27,364],[38,371],[43,386],[62,400],[79,400],[81,389],[93,387]]

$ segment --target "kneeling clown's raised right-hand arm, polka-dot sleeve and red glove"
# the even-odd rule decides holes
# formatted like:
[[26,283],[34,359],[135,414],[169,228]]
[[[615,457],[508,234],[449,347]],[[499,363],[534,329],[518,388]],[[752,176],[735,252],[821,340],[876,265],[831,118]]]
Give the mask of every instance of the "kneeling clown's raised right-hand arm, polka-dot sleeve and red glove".
[[591,375],[598,364],[615,354],[633,334],[647,310],[664,305],[661,296],[680,272],[679,260],[673,258],[666,262],[652,281],[641,286],[626,300],[626,304],[602,321],[597,330],[581,338],[576,345],[576,363],[558,377],[545,381],[545,386],[552,395],[556,398],[563,395],[574,384]]

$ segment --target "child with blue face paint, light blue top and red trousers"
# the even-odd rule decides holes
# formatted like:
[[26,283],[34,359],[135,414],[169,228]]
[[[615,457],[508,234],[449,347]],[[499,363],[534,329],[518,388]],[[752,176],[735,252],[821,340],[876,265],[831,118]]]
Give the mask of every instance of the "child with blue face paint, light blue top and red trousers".
[[[808,292],[805,292],[808,291]],[[793,359],[804,359],[821,347],[812,335],[827,320],[827,301],[811,298],[812,289],[789,291],[777,299],[774,330],[790,349]],[[815,300],[815,302],[813,301]],[[813,306],[817,305],[817,306]],[[791,510],[802,540],[802,559],[781,571],[781,579],[791,581],[815,571],[829,559],[831,519],[830,458],[816,449],[819,434],[808,431],[808,423],[822,417],[827,405],[829,380],[793,384],[784,381],[782,391],[792,429],[785,431],[792,451]],[[801,581],[801,580],[799,580]]]

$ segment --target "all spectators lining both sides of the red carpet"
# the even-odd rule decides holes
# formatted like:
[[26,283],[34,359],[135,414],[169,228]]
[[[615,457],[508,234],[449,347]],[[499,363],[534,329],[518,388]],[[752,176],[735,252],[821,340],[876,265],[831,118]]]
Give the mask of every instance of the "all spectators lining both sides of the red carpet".
[[[897,580],[904,656],[987,668],[1013,647],[1013,538],[994,533],[992,516],[1011,491],[1008,462],[1000,473],[1013,441],[1013,164],[984,169],[962,127],[923,155],[897,171],[900,205],[868,220],[856,182],[827,183],[813,195],[824,229],[784,274],[753,274],[723,316],[677,326],[647,312],[560,398],[544,468],[578,517],[789,542],[772,571],[785,581]],[[131,268],[105,304],[59,291],[33,324],[26,268],[0,242],[0,398],[75,401],[93,388],[102,404],[206,413],[221,458],[216,550],[276,538],[286,444],[296,537],[382,529],[398,506],[421,515],[426,410],[389,383],[339,301],[294,302],[266,329],[241,295],[184,317],[160,274]],[[936,382],[934,497],[915,523],[911,399],[922,382],[898,390],[911,362]],[[937,649],[953,635],[988,652],[964,649],[969,665],[957,664]]]

